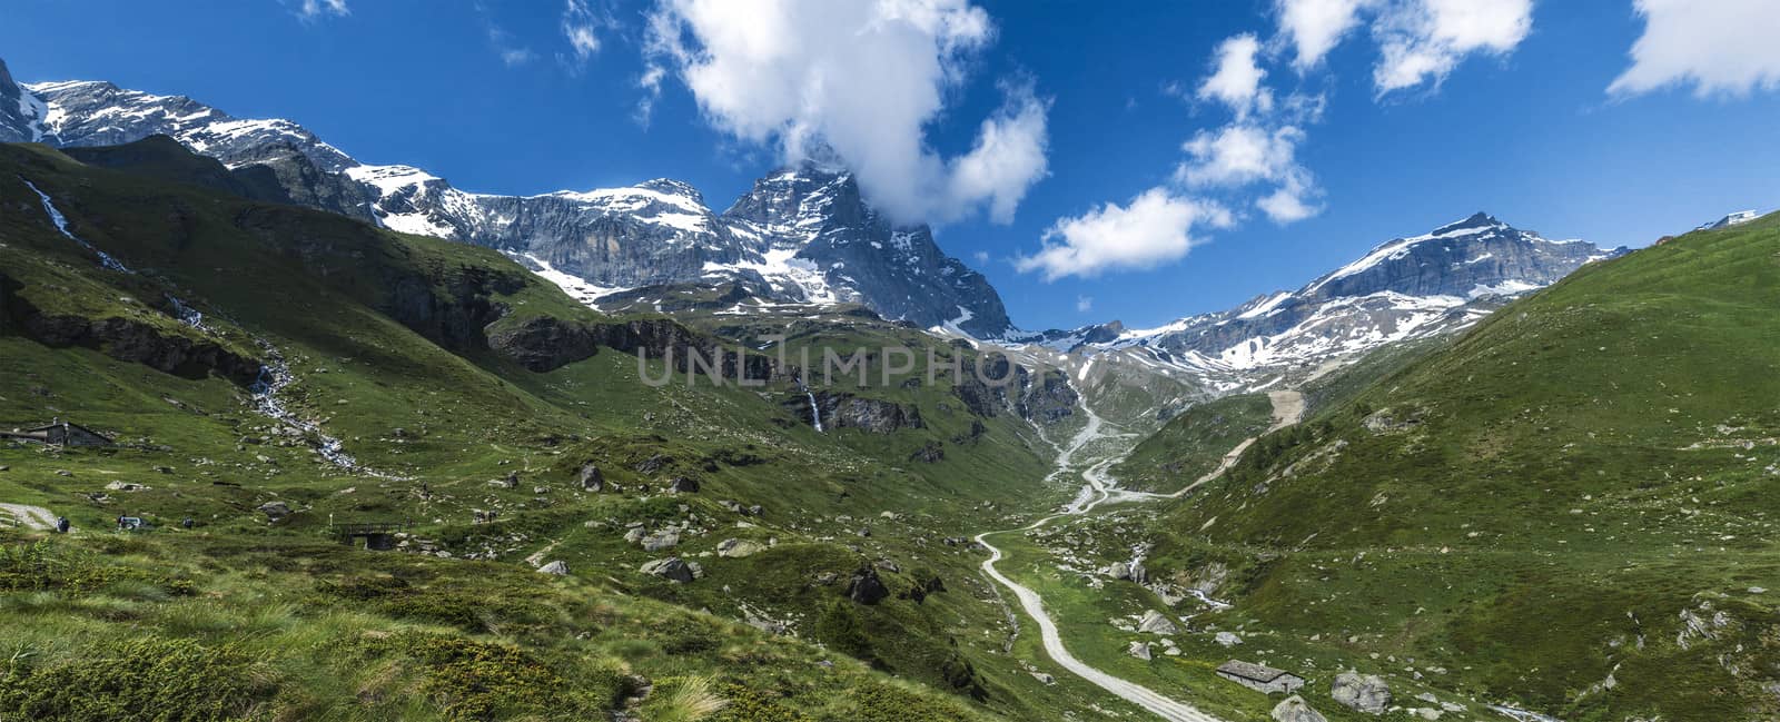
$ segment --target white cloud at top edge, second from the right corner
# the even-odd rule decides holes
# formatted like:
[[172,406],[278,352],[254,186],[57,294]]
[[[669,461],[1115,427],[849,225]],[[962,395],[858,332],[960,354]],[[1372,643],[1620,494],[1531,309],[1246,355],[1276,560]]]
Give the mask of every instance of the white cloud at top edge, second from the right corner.
[[1506,55],[1533,30],[1533,0],[1399,0],[1372,21],[1380,94],[1440,85],[1472,53]]

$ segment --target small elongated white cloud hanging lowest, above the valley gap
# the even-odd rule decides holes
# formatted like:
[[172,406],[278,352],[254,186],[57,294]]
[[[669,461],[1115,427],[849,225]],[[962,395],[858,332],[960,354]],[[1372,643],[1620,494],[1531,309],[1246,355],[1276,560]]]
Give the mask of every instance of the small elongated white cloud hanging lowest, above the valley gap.
[[1057,219],[1045,231],[1045,245],[1015,260],[1015,269],[1043,272],[1045,281],[1064,276],[1093,277],[1116,269],[1152,269],[1180,260],[1194,245],[1194,226],[1228,228],[1223,206],[1150,189],[1129,205],[1107,203],[1079,217]]

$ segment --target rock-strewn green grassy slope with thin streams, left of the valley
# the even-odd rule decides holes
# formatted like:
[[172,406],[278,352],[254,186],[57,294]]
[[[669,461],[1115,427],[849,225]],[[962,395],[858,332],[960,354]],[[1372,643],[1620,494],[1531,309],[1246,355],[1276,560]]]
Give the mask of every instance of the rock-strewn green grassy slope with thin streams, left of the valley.
[[[189,164],[162,160],[150,171],[192,180]],[[27,180],[132,272],[101,269],[57,233]],[[639,370],[611,345],[530,370],[504,333],[703,347],[755,331],[600,315],[488,249],[43,148],[0,148],[0,427],[64,418],[119,441],[0,443],[0,501],[46,507],[78,530],[0,532],[0,605],[32,619],[0,631],[18,651],[7,688],[25,690],[4,704],[78,717],[87,701],[57,690],[125,676],[141,685],[107,704],[164,704],[157,688],[226,679],[222,697],[190,699],[208,710],[196,717],[586,718],[623,710],[644,678],[655,690],[644,718],[698,718],[650,711],[678,686],[776,710],[733,718],[1061,718],[1111,706],[1007,654],[1015,628],[975,574],[977,555],[943,542],[1072,493],[1040,484],[1050,448],[1013,402],[974,407],[945,375],[910,384],[924,375],[917,363],[890,384],[815,389],[901,409],[902,421],[817,432],[787,375],[651,388],[639,373],[660,375],[662,361]],[[201,327],[173,299],[201,311]],[[790,357],[897,343],[918,357],[974,356],[869,317],[756,325],[783,327]],[[274,357],[290,370],[276,398],[308,429],[256,411],[251,382]],[[328,462],[324,436],[361,468]],[[582,487],[586,468],[603,489]],[[671,493],[682,477],[700,489]],[[274,501],[290,512],[262,510]],[[498,516],[475,523],[477,512]],[[126,514],[151,528],[114,535]],[[333,542],[331,525],[360,521],[411,523],[406,553]],[[632,528],[680,542],[646,551],[627,541]],[[758,551],[717,555],[730,539]],[[668,557],[703,576],[639,571]],[[570,578],[532,571],[548,560]],[[849,599],[854,576],[888,594]],[[101,647],[174,662],[93,669],[84,660]],[[176,662],[212,656],[221,667]],[[484,662],[525,672],[488,679]]]

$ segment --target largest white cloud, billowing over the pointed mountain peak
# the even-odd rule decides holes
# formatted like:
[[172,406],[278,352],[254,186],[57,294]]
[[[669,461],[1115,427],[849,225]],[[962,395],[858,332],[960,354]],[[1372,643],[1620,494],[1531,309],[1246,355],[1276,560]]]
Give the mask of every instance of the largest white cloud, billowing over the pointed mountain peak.
[[787,160],[833,149],[897,221],[943,222],[984,205],[1009,219],[1045,176],[1047,101],[1004,85],[1006,105],[961,158],[943,158],[926,135],[993,36],[968,0],[660,0],[646,55],[719,130]]

